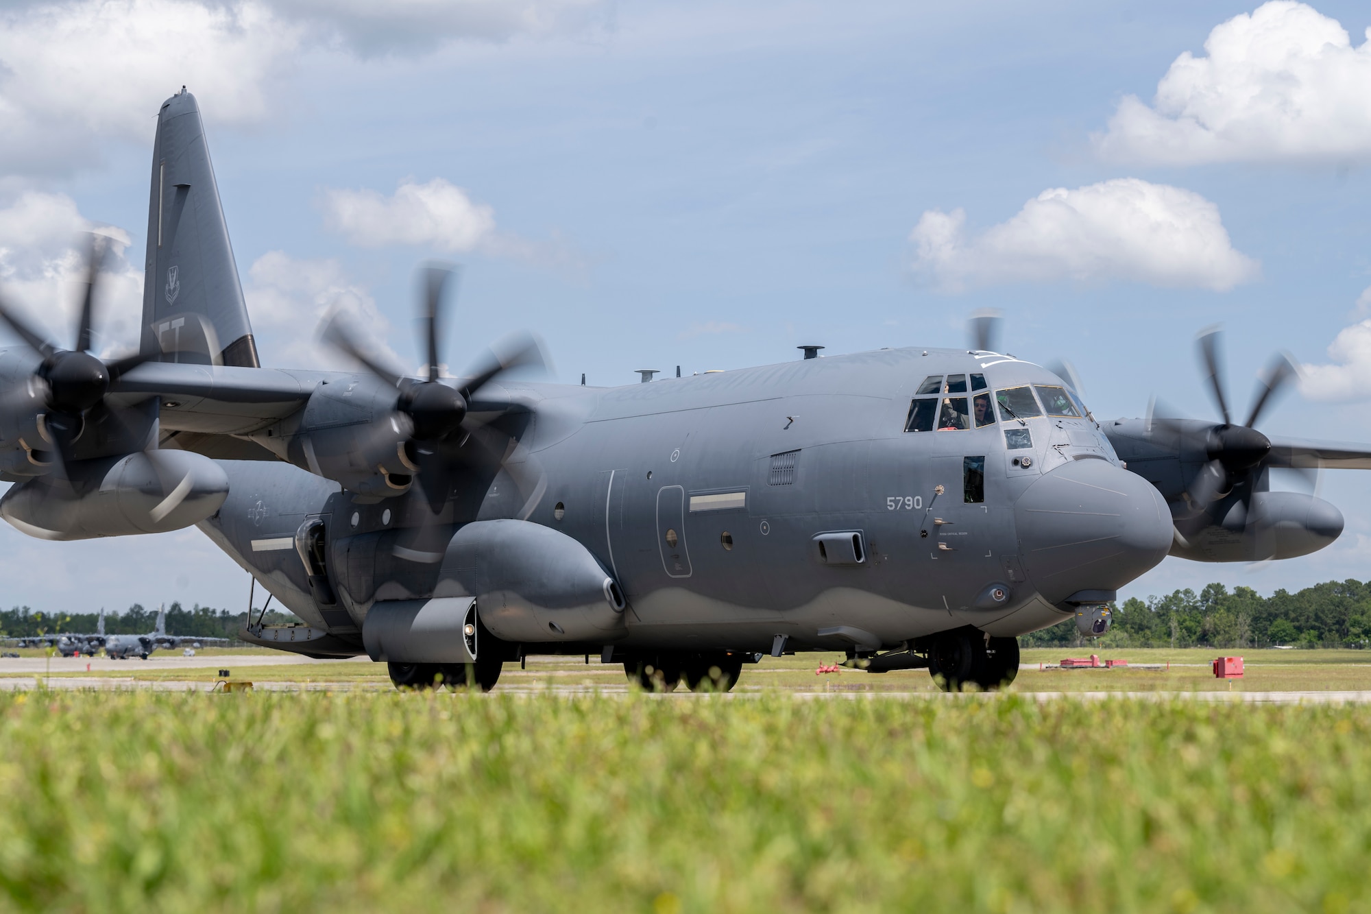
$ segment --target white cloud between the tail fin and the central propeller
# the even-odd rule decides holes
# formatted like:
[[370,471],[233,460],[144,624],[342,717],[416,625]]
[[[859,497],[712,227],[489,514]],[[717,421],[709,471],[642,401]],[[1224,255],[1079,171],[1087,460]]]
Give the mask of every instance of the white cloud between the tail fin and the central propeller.
[[318,342],[315,331],[335,309],[351,318],[373,351],[400,364],[385,342],[391,327],[377,310],[376,299],[335,259],[298,259],[284,251],[267,251],[248,269],[243,296],[263,365],[355,369],[350,358]]

